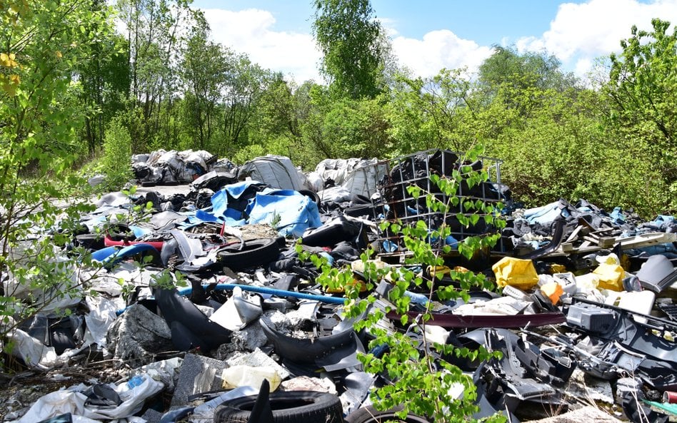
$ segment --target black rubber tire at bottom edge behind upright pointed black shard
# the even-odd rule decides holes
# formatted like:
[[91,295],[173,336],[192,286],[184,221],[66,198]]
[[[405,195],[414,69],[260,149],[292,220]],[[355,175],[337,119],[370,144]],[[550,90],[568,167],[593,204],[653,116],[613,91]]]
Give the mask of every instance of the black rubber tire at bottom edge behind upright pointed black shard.
[[[216,409],[216,423],[247,423],[256,395],[224,402]],[[313,391],[275,392],[270,396],[274,423],[343,423],[343,408],[334,394]]]

